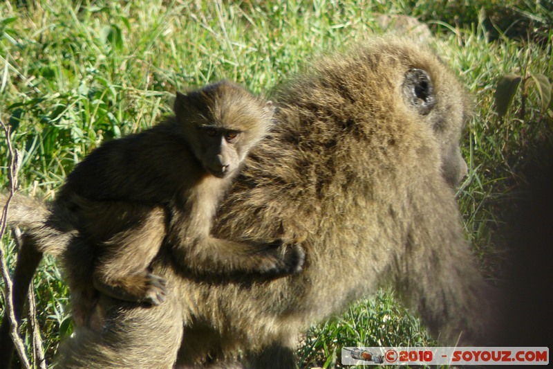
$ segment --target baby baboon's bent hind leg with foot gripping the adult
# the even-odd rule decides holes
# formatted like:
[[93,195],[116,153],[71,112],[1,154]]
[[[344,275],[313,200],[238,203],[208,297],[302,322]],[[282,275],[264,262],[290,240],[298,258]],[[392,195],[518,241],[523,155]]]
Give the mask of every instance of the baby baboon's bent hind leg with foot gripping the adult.
[[165,237],[165,210],[144,211],[131,228],[115,233],[101,247],[94,287],[121,300],[158,305],[165,298],[165,280],[149,272],[149,265]]

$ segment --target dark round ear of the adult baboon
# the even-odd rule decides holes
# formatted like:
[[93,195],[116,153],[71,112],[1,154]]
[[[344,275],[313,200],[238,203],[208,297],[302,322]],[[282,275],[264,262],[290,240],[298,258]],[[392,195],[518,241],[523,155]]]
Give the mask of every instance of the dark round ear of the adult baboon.
[[436,99],[430,75],[422,69],[409,69],[403,80],[403,97],[419,114],[430,113]]

